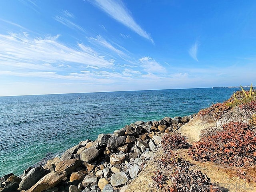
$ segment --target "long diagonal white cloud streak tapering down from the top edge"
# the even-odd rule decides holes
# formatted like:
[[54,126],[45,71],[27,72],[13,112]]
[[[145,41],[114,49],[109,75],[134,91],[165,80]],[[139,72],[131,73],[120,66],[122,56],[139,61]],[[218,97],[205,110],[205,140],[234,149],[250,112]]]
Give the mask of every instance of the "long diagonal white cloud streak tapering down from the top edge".
[[154,44],[153,39],[135,22],[129,10],[127,10],[121,0],[89,0],[89,2],[92,2],[92,4],[98,6],[112,18]]

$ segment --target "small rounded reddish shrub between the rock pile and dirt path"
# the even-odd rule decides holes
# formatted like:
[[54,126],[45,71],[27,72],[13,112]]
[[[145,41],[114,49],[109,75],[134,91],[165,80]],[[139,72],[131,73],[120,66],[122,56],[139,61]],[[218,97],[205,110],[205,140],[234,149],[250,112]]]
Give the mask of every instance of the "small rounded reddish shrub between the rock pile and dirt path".
[[165,134],[162,137],[162,148],[163,150],[177,150],[185,148],[187,146],[186,137],[182,136],[178,132],[172,132],[170,135]]

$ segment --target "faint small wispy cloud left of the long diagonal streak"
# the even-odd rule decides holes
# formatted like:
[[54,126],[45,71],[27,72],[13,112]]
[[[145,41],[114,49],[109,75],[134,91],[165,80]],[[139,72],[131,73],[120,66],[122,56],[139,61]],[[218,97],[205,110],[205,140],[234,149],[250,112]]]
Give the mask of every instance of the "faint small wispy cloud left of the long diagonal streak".
[[72,28],[72,29],[78,29],[82,32],[85,32],[84,28],[82,28],[81,26],[79,26],[78,24],[72,22],[71,19],[74,19],[75,16],[69,12],[68,10],[63,10],[61,12],[61,15],[57,15],[54,17],[54,20],[60,22],[61,24],[67,26],[68,28]]

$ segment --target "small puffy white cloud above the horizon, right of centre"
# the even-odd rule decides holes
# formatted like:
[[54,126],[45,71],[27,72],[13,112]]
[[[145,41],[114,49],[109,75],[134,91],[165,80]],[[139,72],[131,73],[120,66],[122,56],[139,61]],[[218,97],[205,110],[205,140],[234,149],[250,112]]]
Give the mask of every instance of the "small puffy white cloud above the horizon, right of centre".
[[149,74],[166,73],[166,69],[151,57],[142,57],[139,61],[142,63],[144,71]]

